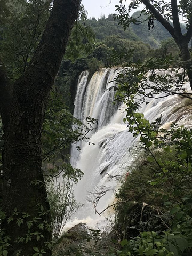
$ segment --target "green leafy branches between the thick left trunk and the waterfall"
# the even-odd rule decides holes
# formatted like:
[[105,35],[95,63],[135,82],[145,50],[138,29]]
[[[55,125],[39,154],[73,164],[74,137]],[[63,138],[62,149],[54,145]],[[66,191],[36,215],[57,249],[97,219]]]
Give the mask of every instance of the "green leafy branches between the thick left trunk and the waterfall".
[[84,138],[82,134],[84,129],[86,130],[86,127],[82,126],[81,121],[78,121],[66,110],[61,95],[52,91],[43,124],[43,161],[51,161],[58,155],[62,157],[63,161],[68,161],[69,157],[65,158],[62,152],[67,154],[71,143],[76,143]]

